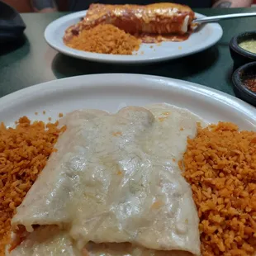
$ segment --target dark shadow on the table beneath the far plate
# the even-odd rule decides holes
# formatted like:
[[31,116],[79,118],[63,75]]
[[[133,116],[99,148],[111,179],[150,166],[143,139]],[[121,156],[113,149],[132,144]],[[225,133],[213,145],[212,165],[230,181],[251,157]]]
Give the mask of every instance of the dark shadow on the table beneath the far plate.
[[218,59],[216,46],[201,53],[154,64],[101,64],[58,54],[52,62],[56,78],[90,73],[144,73],[186,79],[209,69]]

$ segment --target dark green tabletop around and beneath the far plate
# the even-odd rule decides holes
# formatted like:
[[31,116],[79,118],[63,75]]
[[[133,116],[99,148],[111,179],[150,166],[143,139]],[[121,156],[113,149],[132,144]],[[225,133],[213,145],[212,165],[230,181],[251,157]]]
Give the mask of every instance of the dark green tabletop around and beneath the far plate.
[[[206,16],[233,12],[255,12],[256,9],[196,9]],[[22,88],[57,78],[90,73],[145,73],[200,83],[234,95],[230,76],[233,61],[229,43],[232,36],[256,29],[256,17],[220,21],[224,34],[208,50],[182,59],[159,64],[99,64],[73,59],[53,50],[44,39],[45,27],[66,13],[25,13],[24,41],[7,48],[0,45],[0,97]],[[72,85],[71,85],[72,86]]]

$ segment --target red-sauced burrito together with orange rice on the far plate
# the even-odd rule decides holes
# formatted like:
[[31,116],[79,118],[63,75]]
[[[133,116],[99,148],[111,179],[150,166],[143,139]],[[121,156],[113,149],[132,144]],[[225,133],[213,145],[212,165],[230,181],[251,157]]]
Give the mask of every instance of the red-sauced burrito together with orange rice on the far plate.
[[[90,50],[90,46],[88,47],[88,44],[91,44],[89,35],[91,35],[90,33],[94,35],[96,30],[102,33],[102,40],[99,40],[97,46],[93,46],[93,52],[96,48],[96,50],[100,50],[96,51],[97,53],[102,53],[102,47],[104,47],[102,42],[106,40],[106,35],[109,37],[107,44],[116,45],[117,33],[120,33],[121,36],[126,35],[127,39],[129,37],[130,39],[127,40],[126,45],[129,45],[129,49],[134,49],[134,45],[136,45],[136,50],[137,46],[140,45],[138,40],[144,43],[187,40],[194,18],[195,13],[190,7],[171,2],[145,6],[96,3],[90,5],[86,16],[81,21],[65,31],[64,43],[78,50]],[[104,26],[107,24],[111,26]],[[100,28],[97,28],[97,26],[100,26]],[[116,26],[115,31],[113,26]],[[108,33],[107,30],[109,30]],[[129,36],[128,33],[133,36]],[[105,36],[104,39],[103,36]],[[137,38],[136,44],[134,44],[134,36]],[[72,44],[74,40],[77,42],[75,45],[78,48]],[[80,43],[78,43],[79,40],[81,40]],[[94,45],[94,40],[92,44]]]

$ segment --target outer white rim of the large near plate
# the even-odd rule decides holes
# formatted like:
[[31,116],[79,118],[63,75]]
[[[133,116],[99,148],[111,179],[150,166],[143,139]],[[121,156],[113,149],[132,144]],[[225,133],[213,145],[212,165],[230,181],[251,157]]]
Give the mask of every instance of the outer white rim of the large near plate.
[[[198,83],[192,83],[181,79],[175,79],[175,78],[166,78],[161,76],[155,76],[155,75],[148,75],[148,74],[138,74],[138,73],[98,73],[98,74],[85,74],[80,76],[73,76],[69,78],[61,78],[61,79],[55,79],[51,80],[45,83],[37,83],[36,85],[32,85],[27,88],[23,88],[21,90],[18,90],[16,92],[12,92],[10,94],[7,94],[4,97],[0,98],[0,107],[4,111],[5,108],[8,108],[12,106],[12,102],[18,101],[18,99],[23,97],[29,97],[33,93],[38,94],[44,94],[49,93],[52,91],[58,91],[59,88],[62,88],[62,91],[69,90],[70,84],[72,84],[73,87],[96,87],[97,85],[92,85],[92,83],[99,83],[101,82],[101,86],[107,87],[110,86],[107,83],[104,83],[104,81],[119,81],[120,87],[125,87],[126,83],[121,83],[120,81],[129,81],[130,79],[136,79],[138,83],[140,81],[149,81],[149,82],[155,82],[155,83],[161,83],[164,85],[164,88],[178,88],[180,90],[186,90],[193,93],[197,93],[198,95],[201,94],[201,96],[211,97],[216,102],[222,102],[225,105],[228,105],[229,107],[232,107],[234,110],[239,109],[239,111],[244,112],[246,116],[249,116],[250,119],[254,120],[256,127],[256,108],[249,105],[247,102],[243,102],[237,97],[234,97],[232,95],[229,95],[225,92],[218,91],[214,88],[209,88],[204,85],[198,84]],[[129,79],[130,78],[130,79]],[[83,85],[76,85],[76,82],[78,81],[89,81],[87,83],[84,83]],[[77,84],[78,84],[77,83]],[[143,85],[144,87],[147,87],[147,85]],[[157,86],[157,85],[156,85]],[[157,88],[157,87],[155,87]],[[11,102],[11,103],[10,103]],[[7,107],[8,106],[8,107]]]

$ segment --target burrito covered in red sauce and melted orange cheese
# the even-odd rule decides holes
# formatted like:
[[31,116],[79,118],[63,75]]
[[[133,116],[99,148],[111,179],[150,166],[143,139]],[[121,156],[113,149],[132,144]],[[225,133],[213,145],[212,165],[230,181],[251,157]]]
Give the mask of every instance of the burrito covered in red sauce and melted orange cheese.
[[140,5],[91,4],[86,16],[78,24],[69,27],[64,36],[68,41],[83,29],[99,24],[111,24],[130,34],[177,34],[187,33],[195,14],[190,7],[171,3]]

